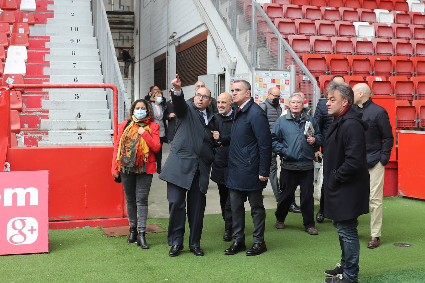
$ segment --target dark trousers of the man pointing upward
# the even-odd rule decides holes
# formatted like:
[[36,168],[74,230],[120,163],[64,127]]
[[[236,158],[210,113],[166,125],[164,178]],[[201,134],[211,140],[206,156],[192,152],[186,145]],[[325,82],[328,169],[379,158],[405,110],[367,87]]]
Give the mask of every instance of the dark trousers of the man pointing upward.
[[[187,193],[187,197],[186,197]],[[199,169],[196,170],[190,190],[167,182],[167,199],[170,203],[170,222],[168,224],[168,245],[182,245],[184,227],[189,222],[189,248],[201,246],[202,226],[204,224],[205,194],[199,188]]]

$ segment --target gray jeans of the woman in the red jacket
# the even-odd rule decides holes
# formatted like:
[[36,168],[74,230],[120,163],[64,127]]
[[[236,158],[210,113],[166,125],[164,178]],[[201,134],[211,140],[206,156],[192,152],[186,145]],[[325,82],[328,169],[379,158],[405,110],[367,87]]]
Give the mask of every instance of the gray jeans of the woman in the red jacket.
[[119,176],[125,193],[128,224],[130,227],[136,227],[137,225],[139,232],[146,232],[147,198],[153,174],[119,173]]

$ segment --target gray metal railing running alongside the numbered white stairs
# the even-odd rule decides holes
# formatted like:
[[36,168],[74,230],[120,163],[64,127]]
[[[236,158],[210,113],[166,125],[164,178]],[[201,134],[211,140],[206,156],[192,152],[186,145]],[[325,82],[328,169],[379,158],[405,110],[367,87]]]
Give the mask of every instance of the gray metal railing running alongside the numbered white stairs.
[[[102,62],[102,74],[105,84],[113,84],[118,88],[118,123],[125,120],[127,110],[130,108],[127,92],[122,81],[118,60],[116,59],[115,47],[111,30],[109,28],[108,17],[102,0],[92,0],[94,36],[97,38],[100,61]],[[113,93],[107,90],[108,106],[113,120]]]

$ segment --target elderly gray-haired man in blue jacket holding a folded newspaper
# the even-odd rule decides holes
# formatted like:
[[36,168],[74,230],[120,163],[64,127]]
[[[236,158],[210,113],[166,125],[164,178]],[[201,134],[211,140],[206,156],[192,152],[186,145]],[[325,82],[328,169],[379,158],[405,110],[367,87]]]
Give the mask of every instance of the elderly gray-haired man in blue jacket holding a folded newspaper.
[[[289,96],[289,111],[279,117],[272,129],[272,148],[280,156],[280,193],[276,208],[278,229],[285,229],[295,189],[300,185],[300,206],[305,231],[317,235],[314,227],[314,152],[319,150],[321,136],[316,121],[303,110],[303,97],[294,92]],[[304,134],[308,123],[314,128],[314,134]]]

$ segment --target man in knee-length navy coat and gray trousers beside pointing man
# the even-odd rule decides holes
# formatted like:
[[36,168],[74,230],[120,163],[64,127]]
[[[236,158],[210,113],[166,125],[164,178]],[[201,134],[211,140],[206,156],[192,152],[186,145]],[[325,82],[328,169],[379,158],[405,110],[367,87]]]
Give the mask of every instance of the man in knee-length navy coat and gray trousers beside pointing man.
[[260,255],[267,250],[264,242],[266,210],[263,206],[263,188],[267,185],[272,161],[272,140],[266,113],[251,97],[251,85],[237,80],[232,85],[233,102],[238,106],[230,137],[221,137],[223,145],[230,143],[229,178],[232,207],[233,244],[224,251],[234,255],[246,250],[245,207],[248,198],[254,222],[254,244],[246,255]]

